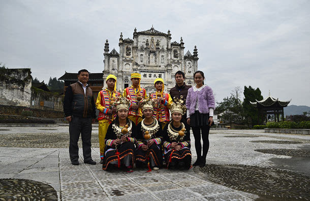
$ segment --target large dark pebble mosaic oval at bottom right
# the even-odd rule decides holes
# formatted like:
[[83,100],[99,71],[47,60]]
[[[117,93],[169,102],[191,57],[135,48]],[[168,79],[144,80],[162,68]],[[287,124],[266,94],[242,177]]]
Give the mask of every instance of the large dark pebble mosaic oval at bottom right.
[[310,198],[310,177],[290,171],[229,164],[209,164],[200,170],[206,174],[206,179],[214,183],[254,193],[261,198],[281,200]]

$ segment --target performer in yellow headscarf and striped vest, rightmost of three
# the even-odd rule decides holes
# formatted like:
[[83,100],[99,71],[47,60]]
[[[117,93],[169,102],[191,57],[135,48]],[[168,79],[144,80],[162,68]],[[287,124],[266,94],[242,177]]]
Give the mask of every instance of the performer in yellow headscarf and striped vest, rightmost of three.
[[154,81],[154,87],[156,92],[152,93],[151,96],[155,100],[153,117],[162,123],[163,128],[170,121],[169,108],[172,103],[172,98],[169,93],[165,93],[164,80],[157,78]]

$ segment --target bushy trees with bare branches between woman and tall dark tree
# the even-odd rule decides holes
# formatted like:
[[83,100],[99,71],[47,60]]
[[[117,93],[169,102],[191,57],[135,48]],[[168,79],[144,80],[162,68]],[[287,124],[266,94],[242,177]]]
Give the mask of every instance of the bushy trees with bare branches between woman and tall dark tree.
[[243,109],[240,100],[242,91],[240,87],[235,87],[232,90],[230,97],[223,98],[223,102],[216,103],[216,111],[219,113],[219,118],[224,122],[232,123],[243,120]]

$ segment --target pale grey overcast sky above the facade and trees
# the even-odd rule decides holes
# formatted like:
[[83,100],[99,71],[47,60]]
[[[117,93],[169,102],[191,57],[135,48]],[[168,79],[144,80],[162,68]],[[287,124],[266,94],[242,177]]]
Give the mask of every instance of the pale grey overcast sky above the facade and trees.
[[[118,2],[118,3],[111,3]],[[290,105],[310,106],[310,1],[5,1],[0,0],[0,62],[32,76],[103,71],[103,49],[119,52],[137,31],[171,31],[184,53],[198,49],[198,69],[216,101],[244,85]]]

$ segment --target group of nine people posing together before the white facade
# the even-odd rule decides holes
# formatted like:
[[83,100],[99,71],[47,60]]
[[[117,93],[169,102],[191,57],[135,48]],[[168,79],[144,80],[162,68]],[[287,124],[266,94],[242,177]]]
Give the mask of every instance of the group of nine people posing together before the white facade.
[[[91,110],[88,118],[94,117],[93,104],[100,111],[99,144],[100,163],[103,164],[103,170],[125,168],[127,172],[133,172],[134,164],[137,168],[148,168],[148,171],[159,170],[163,166],[163,160],[168,169],[190,169],[192,166],[191,127],[197,152],[197,160],[193,165],[204,166],[209,149],[209,128],[213,124],[214,96],[212,89],[204,85],[203,72],[195,72],[196,85],[193,87],[185,85],[184,79],[183,72],[176,72],[176,86],[170,89],[170,93],[166,93],[164,80],[158,78],[154,80],[156,92],[146,94],[145,89],[140,86],[141,75],[133,73],[131,74],[132,86],[120,93],[116,91],[117,78],[109,75],[106,78],[107,87],[99,92],[95,104],[94,98],[87,96],[87,83],[84,84],[83,79],[79,78],[77,84],[67,88],[64,101],[65,115],[70,121],[69,152],[72,164],[78,164],[76,151],[78,151],[77,141],[80,134],[75,130],[79,128],[82,134],[84,162],[96,164],[88,153],[90,137],[89,143],[84,143],[84,140],[88,141],[88,137],[85,136],[91,135],[91,125],[90,134],[86,134],[83,131],[82,122],[74,124],[75,118],[72,119],[78,110],[72,90],[80,86],[76,97],[79,97],[84,89],[84,105],[87,105],[87,99],[91,103],[88,106],[88,111]],[[73,98],[66,98],[70,94],[73,94]],[[83,116],[87,118],[87,109],[83,110]],[[89,122],[91,122],[90,119]],[[203,146],[201,146],[201,136]]]

